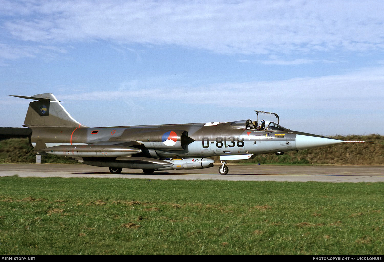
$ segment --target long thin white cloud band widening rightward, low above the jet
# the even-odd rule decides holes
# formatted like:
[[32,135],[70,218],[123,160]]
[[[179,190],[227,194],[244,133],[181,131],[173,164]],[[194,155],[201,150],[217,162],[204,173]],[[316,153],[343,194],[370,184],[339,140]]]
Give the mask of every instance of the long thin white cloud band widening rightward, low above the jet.
[[[154,85],[156,83],[156,85]],[[172,77],[123,83],[116,91],[85,92],[73,100],[179,102],[226,107],[292,108],[295,110],[371,110],[384,108],[384,67],[344,75],[287,80],[218,83],[183,87]]]

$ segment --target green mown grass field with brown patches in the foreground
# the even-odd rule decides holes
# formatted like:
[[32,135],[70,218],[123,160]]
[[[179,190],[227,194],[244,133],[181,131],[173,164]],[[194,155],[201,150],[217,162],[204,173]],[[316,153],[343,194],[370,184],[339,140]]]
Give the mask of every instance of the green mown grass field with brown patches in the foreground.
[[382,255],[383,186],[0,177],[0,254]]

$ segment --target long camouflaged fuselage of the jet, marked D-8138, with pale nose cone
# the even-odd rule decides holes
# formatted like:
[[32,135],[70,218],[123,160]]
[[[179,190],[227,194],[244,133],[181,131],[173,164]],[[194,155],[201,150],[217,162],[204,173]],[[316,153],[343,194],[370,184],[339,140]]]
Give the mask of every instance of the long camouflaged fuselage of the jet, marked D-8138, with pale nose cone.
[[[255,130],[246,126],[247,121],[224,123],[167,124],[156,126],[121,126],[102,128],[39,128],[32,133],[31,142],[44,138],[49,147],[79,144],[142,144],[151,157],[211,157],[246,154],[268,154],[308,149],[344,142],[290,129]],[[177,131],[183,131],[177,134]],[[185,133],[185,131],[187,131]],[[162,136],[168,132],[176,135],[175,144],[166,145]],[[55,134],[55,136],[53,136]],[[185,137],[185,138],[184,138]],[[167,139],[170,140],[170,139]],[[124,152],[122,153],[124,155]],[[137,156],[137,153],[136,153]]]

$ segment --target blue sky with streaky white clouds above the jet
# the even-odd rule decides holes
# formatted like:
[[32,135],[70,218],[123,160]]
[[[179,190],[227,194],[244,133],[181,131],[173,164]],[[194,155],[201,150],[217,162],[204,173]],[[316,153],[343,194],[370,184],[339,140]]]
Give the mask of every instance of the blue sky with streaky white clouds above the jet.
[[53,93],[87,126],[278,113],[384,134],[384,2],[0,0],[0,126]]

